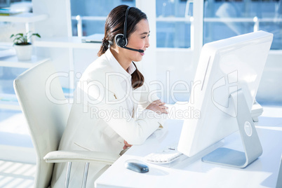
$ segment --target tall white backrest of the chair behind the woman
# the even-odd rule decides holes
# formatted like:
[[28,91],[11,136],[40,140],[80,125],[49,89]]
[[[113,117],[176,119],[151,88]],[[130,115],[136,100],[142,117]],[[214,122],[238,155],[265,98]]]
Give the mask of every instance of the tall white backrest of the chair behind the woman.
[[46,163],[43,156],[58,150],[69,116],[69,107],[56,75],[52,62],[46,61],[14,80],[15,94],[36,151],[34,187],[48,187],[51,182],[53,163]]

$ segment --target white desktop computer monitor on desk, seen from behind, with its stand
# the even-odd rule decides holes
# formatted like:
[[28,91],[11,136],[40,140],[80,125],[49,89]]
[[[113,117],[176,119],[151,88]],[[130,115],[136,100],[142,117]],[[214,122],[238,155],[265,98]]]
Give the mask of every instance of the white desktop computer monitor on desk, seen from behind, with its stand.
[[[237,153],[224,149],[206,158],[246,167],[262,154],[250,112],[272,39],[273,34],[259,31],[203,46],[189,98],[189,108],[200,115],[184,120],[179,152],[194,156],[240,130],[245,153],[239,155],[243,159],[238,161]],[[222,156],[227,159],[218,159]]]

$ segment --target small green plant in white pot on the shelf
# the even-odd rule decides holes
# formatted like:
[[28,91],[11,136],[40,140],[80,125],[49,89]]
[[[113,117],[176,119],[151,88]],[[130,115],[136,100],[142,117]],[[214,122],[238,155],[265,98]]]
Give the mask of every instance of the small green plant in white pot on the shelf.
[[13,43],[18,60],[30,60],[32,58],[32,43],[29,42],[32,36],[41,38],[38,33],[32,32],[12,34],[10,36],[10,38],[14,38]]

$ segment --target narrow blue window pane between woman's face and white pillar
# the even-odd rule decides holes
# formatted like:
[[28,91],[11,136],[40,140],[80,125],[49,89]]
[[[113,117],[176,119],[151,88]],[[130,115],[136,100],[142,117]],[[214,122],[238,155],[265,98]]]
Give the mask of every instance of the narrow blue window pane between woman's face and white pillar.
[[189,48],[190,1],[156,0],[156,47]]

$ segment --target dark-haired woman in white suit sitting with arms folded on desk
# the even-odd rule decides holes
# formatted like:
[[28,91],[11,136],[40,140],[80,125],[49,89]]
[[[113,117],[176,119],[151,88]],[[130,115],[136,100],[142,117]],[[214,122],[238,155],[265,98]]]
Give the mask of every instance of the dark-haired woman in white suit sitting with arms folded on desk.
[[[127,39],[127,41],[126,41]],[[60,150],[92,150],[120,154],[141,145],[163,124],[167,107],[150,95],[133,61],[149,47],[149,23],[138,8],[117,6],[105,23],[100,56],[81,76]],[[144,110],[139,111],[138,105]],[[83,164],[73,163],[70,187],[81,186]],[[90,163],[87,187],[108,166]],[[62,187],[66,164],[55,165],[52,187]],[[74,173],[75,172],[75,173]]]

